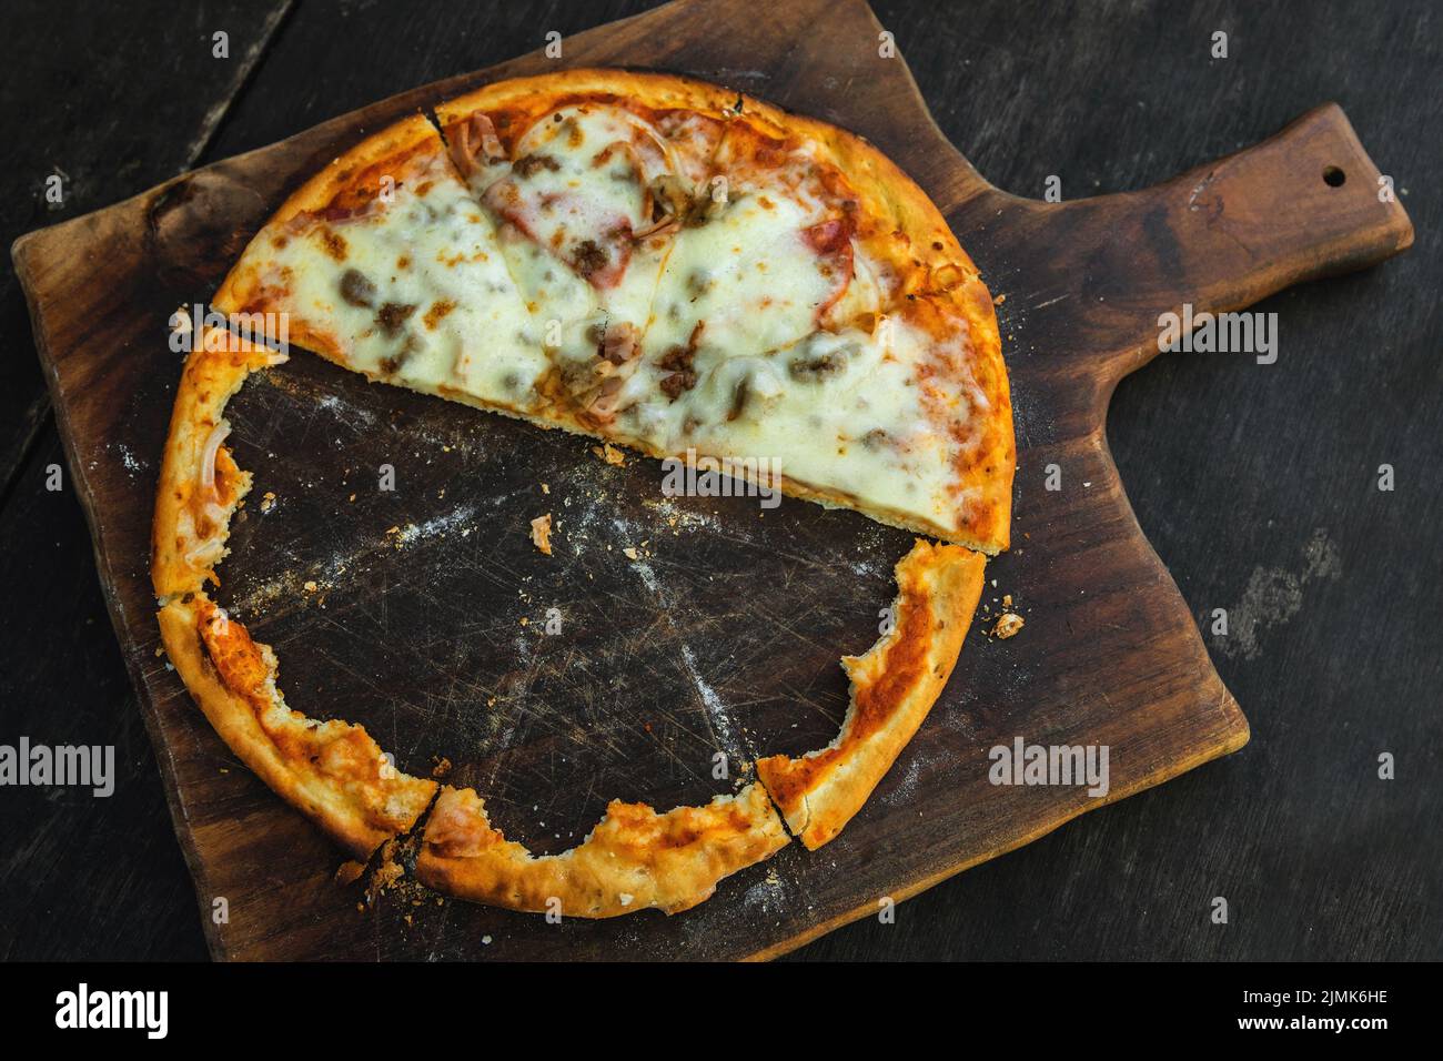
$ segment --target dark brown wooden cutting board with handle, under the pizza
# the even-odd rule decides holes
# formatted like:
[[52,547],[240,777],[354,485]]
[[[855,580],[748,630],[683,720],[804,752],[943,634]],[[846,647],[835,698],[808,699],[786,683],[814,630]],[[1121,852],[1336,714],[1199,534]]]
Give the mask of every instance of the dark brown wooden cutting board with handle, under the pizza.
[[[1238,309],[1375,264],[1411,243],[1407,215],[1378,201],[1378,170],[1333,105],[1147,191],[1007,195],[942,137],[880,32],[860,0],[685,0],[567,39],[561,59],[414,89],[17,241],[71,484],[216,957],[773,956],[1247,741],[1123,494],[1108,398],[1156,354],[1160,313]],[[834,121],[928,191],[1004,296],[1014,549],[988,564],[986,611],[926,725],[823,850],[792,844],[672,918],[551,925],[414,885],[361,909],[359,886],[332,879],[342,853],[240,767],[157,655],[150,504],[180,370],[166,319],[203,302],[287,191],[364,133],[486,81],[580,65],[690,74]],[[804,502],[668,502],[655,462],[610,466],[573,436],[306,354],[253,380],[229,417],[257,485],[219,599],[276,645],[290,702],[364,723],[411,772],[446,758],[449,780],[537,852],[580,840],[612,797],[665,808],[724,790],[717,749],[743,761],[825,743],[846,709],[837,658],[876,638],[911,543]],[[1053,463],[1062,489],[1048,491]],[[395,491],[378,489],[381,465]],[[550,560],[527,537],[544,511]],[[1003,595],[1026,628],[990,639]],[[988,749],[1019,736],[1107,745],[1108,795],[991,785]]]

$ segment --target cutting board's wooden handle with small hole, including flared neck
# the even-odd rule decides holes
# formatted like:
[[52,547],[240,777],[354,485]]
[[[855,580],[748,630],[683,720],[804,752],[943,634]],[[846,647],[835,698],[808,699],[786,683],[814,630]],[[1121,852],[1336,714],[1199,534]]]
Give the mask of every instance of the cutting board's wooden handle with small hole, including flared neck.
[[1026,315],[1056,371],[1101,380],[1105,403],[1157,355],[1169,315],[1238,310],[1411,245],[1413,222],[1381,176],[1342,108],[1325,104],[1153,188],[1061,204],[993,192],[952,221],[986,261],[1026,263],[1010,312]]

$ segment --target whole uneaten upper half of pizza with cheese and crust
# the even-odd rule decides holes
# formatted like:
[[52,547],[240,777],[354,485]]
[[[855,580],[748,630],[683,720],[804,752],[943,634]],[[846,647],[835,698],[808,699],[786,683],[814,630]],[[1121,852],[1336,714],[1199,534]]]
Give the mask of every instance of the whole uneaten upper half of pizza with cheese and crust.
[[496,82],[316,175],[215,299],[365,372],[986,553],[1014,446],[991,299],[866,141],[684,78]]

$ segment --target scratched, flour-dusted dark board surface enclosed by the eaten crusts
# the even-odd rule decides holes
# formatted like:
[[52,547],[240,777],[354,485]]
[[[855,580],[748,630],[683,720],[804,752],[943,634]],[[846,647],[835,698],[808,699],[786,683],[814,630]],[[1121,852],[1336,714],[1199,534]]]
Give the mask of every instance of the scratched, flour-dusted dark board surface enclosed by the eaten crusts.
[[668,498],[657,460],[309,354],[228,416],[257,485],[219,601],[274,645],[290,703],[364,723],[410,772],[446,759],[535,852],[612,798],[706,803],[759,754],[827,743],[838,655],[876,638],[911,543],[791,499]]

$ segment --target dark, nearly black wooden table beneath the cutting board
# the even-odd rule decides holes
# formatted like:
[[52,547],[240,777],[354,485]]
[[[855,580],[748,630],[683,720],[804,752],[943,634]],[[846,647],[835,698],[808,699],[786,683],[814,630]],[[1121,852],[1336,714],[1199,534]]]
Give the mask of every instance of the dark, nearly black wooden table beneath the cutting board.
[[[9,0],[0,232],[645,4]],[[1175,354],[1110,442],[1253,725],[1211,764],[801,959],[1443,957],[1443,20],[1335,4],[882,0],[944,131],[1040,198],[1141,188],[1336,100],[1417,241],[1289,290],[1278,358]],[[214,35],[228,35],[227,58]],[[1212,58],[1214,33],[1228,58]],[[61,175],[62,204],[46,178]],[[964,235],[965,240],[965,235]],[[0,742],[114,745],[110,798],[0,790],[0,957],[202,959],[190,878],[113,641],[13,273],[0,276]],[[1395,489],[1377,488],[1380,465]],[[137,491],[139,492],[139,491]],[[149,495],[136,504],[149,505]],[[1380,780],[1390,752],[1397,777]],[[1228,924],[1209,918],[1225,896]]]

